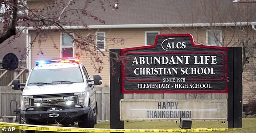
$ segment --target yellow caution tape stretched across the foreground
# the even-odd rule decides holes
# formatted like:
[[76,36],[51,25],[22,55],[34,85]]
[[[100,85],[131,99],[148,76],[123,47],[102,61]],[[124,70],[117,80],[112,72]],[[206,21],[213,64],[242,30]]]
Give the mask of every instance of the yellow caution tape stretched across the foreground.
[[227,131],[237,129],[227,128],[196,128],[196,129],[93,129],[93,128],[75,128],[75,127],[60,127],[47,125],[29,125],[0,122],[0,129],[4,131],[7,127],[15,127],[15,129],[25,129],[34,131],[49,131],[49,132],[95,132],[95,133],[109,133],[109,132],[126,132],[126,133],[181,133],[181,132],[211,132],[211,131]]

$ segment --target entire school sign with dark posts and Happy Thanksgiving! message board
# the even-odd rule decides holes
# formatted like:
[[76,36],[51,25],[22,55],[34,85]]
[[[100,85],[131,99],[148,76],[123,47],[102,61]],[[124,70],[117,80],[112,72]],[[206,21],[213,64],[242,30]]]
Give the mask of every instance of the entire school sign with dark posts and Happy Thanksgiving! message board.
[[[194,44],[190,34],[157,35],[154,45],[110,49],[110,57],[111,128],[179,117],[242,127],[241,47]],[[124,93],[227,93],[227,99],[132,100]]]

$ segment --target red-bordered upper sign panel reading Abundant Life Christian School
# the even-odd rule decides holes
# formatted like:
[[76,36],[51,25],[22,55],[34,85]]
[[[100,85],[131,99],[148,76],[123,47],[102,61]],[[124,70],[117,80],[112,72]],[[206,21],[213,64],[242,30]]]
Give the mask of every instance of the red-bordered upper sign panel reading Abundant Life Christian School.
[[122,49],[122,93],[227,93],[227,47],[192,35],[157,35],[155,45]]

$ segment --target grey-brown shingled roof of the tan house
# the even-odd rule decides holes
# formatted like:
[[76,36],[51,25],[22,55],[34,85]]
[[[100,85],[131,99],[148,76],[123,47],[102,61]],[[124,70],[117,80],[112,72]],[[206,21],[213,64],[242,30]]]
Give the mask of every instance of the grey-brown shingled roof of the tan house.
[[[113,3],[111,3],[113,4]],[[105,4],[103,11],[95,0],[87,11],[105,21],[83,17],[87,25],[127,25],[127,24],[179,24],[179,23],[235,23],[256,22],[255,2],[233,2],[233,0],[118,0],[117,10]],[[84,6],[83,0],[73,4],[73,8]],[[82,25],[76,16],[70,15],[64,21]]]

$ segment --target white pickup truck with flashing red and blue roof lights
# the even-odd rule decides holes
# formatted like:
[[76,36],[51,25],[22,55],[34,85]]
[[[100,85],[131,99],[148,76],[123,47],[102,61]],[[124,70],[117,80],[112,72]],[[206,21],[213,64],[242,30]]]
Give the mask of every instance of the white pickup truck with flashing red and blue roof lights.
[[100,84],[100,75],[91,79],[78,59],[38,61],[26,83],[12,82],[12,89],[23,91],[20,123],[66,126],[78,122],[79,127],[93,128],[98,111],[94,85]]

